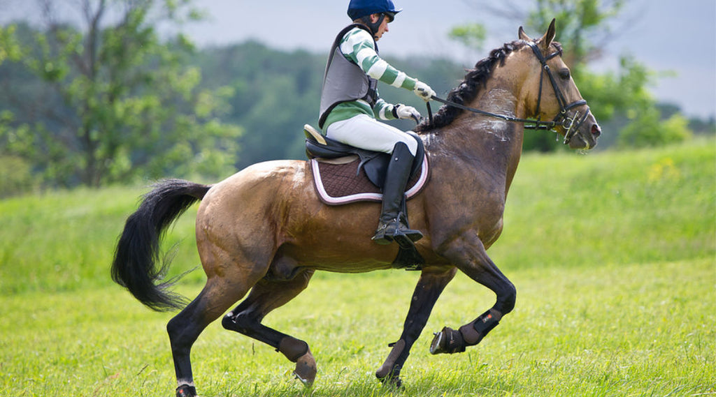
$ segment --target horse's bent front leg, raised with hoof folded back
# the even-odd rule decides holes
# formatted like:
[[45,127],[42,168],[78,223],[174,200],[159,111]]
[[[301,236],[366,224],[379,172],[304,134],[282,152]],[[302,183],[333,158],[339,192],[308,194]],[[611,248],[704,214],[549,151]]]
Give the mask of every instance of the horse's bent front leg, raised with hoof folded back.
[[488,332],[498,325],[500,319],[515,307],[517,291],[515,286],[500,272],[488,257],[477,233],[464,233],[448,243],[445,258],[467,274],[470,278],[490,288],[496,295],[495,305],[470,323],[457,330],[444,327],[435,334],[430,343],[430,353],[460,353],[467,346],[473,346],[483,340]]

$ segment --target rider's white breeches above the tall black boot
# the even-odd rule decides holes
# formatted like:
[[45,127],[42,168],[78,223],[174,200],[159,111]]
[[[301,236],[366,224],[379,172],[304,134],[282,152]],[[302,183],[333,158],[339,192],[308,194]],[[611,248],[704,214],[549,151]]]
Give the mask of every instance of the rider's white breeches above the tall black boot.
[[410,154],[417,153],[417,141],[403,131],[381,123],[366,114],[353,116],[348,120],[336,121],[328,126],[326,136],[342,144],[360,149],[382,151],[391,154],[398,142],[403,142]]

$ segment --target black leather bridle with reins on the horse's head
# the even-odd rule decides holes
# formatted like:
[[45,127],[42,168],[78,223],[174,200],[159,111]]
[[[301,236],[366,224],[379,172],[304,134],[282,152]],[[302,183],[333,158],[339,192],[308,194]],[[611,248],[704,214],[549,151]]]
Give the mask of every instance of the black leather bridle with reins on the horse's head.
[[[432,96],[432,99],[438,102],[441,102],[442,104],[453,106],[458,109],[471,111],[476,114],[483,114],[485,116],[495,117],[497,119],[503,119],[505,121],[514,121],[516,123],[522,123],[525,125],[525,129],[535,129],[535,130],[553,130],[556,126],[562,126],[563,129],[566,130],[564,134],[564,141],[563,144],[568,144],[572,136],[576,134],[576,131],[579,130],[579,127],[584,124],[584,121],[586,121],[586,118],[589,117],[589,106],[586,108],[586,112],[584,112],[583,115],[580,116],[579,111],[574,112],[574,116],[569,117],[567,114],[568,111],[571,109],[574,109],[578,106],[586,105],[586,101],[584,99],[580,99],[579,101],[574,101],[571,104],[567,104],[566,99],[564,98],[564,95],[562,94],[562,91],[559,89],[559,86],[557,85],[557,81],[554,78],[552,71],[547,64],[547,61],[550,59],[553,59],[555,56],[561,55],[561,51],[554,51],[552,54],[549,54],[548,56],[543,56],[542,52],[537,48],[537,44],[535,44],[532,41],[526,41],[526,44],[530,46],[532,49],[532,52],[537,56],[537,59],[540,61],[541,64],[541,71],[539,76],[539,94],[537,96],[537,110],[535,111],[536,119],[520,119],[518,117],[513,116],[506,116],[504,114],[496,114],[492,113],[490,111],[483,111],[480,109],[470,108],[468,106],[465,106],[463,104],[458,104],[453,101],[448,101],[447,99],[438,98],[437,96]],[[557,98],[557,103],[559,104],[559,113],[552,119],[551,121],[542,121],[540,119],[540,104],[542,101],[542,86],[544,81],[544,74],[547,74],[550,83],[552,84],[552,89],[554,90],[554,94]],[[432,123],[432,109],[430,109],[430,102],[427,102],[427,114],[428,118],[430,119],[430,123]],[[577,120],[579,119],[579,121]]]

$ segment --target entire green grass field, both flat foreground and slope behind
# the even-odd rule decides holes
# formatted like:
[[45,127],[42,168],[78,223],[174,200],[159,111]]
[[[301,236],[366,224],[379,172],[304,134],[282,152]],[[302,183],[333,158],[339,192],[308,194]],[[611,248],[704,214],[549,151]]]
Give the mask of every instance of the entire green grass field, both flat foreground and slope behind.
[[[173,396],[165,323],[109,278],[124,219],[145,189],[79,189],[0,201],[3,396]],[[198,264],[193,212],[166,246]],[[402,371],[374,371],[400,336],[417,273],[319,273],[266,318],[304,338],[314,388],[268,346],[213,323],[193,349],[202,396],[716,395],[716,142],[589,156],[524,157],[490,255],[515,311],[466,353],[430,356],[493,293],[458,275]],[[178,290],[198,293],[203,273]]]

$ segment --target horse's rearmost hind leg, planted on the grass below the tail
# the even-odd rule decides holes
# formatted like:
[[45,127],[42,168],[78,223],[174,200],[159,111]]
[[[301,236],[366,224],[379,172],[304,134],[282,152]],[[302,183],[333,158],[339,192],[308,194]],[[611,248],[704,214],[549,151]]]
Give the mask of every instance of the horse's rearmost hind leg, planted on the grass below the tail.
[[177,397],[196,396],[190,361],[191,346],[209,323],[246,295],[251,283],[248,280],[210,278],[199,295],[167,324],[178,383]]

